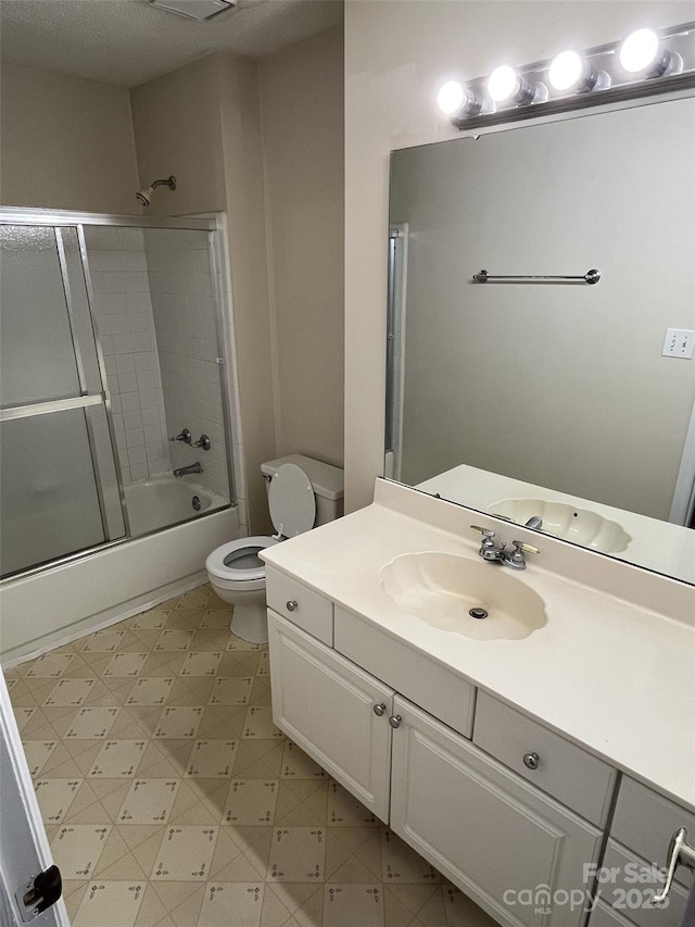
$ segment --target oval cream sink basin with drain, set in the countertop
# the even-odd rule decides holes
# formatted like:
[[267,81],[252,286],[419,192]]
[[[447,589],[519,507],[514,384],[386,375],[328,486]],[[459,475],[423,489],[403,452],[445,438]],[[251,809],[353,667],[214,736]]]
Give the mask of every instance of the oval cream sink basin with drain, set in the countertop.
[[[520,640],[547,621],[541,597],[507,567],[456,554],[396,556],[381,569],[381,588],[428,625],[476,640]],[[473,617],[471,610],[486,617]]]

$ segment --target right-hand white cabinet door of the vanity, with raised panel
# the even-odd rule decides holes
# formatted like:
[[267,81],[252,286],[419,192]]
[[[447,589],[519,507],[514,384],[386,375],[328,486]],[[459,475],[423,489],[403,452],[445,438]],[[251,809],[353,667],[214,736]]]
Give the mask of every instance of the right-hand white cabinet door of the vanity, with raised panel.
[[500,924],[582,924],[601,831],[405,699],[394,713],[391,828]]

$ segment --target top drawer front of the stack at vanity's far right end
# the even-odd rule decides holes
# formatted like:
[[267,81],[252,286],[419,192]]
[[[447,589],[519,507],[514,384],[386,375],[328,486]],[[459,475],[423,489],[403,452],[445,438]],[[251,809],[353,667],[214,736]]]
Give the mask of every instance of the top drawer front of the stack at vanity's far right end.
[[[610,836],[623,847],[629,847],[643,860],[666,866],[669,842],[679,827],[687,827],[693,843],[695,814],[686,811],[670,799],[623,776],[618,792],[616,813],[610,826]],[[691,885],[687,869],[679,866],[675,879]]]

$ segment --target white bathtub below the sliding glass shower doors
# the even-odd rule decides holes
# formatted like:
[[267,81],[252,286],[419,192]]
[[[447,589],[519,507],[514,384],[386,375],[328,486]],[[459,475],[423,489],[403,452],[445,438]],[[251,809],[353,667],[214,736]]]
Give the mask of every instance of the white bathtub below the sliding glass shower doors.
[[[188,518],[193,496],[203,517],[157,530]],[[126,499],[131,539],[0,585],[4,667],[200,586],[207,579],[207,554],[240,537],[239,510],[185,479],[135,483],[126,487]]]

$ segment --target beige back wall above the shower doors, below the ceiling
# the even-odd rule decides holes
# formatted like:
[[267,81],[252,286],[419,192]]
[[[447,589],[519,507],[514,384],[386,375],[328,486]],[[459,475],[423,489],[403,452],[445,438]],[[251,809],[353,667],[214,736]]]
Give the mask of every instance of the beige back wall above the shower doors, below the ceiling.
[[128,91],[2,66],[3,205],[139,213]]

